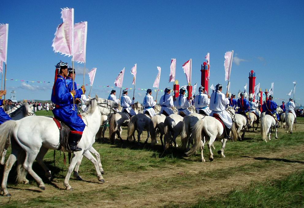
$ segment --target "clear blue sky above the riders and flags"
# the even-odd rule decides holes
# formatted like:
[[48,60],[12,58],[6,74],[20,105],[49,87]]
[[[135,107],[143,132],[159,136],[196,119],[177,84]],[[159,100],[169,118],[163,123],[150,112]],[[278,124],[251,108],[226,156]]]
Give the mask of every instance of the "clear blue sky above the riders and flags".
[[[177,59],[181,85],[186,85],[182,64],[189,58],[192,83],[200,83],[207,52],[211,84],[224,85],[224,54],[234,50],[231,92],[244,89],[253,69],[263,91],[274,82],[277,98],[287,99],[297,81],[295,98],[304,104],[303,1],[4,1],[0,22],[9,24],[7,79],[18,80],[8,80],[7,90],[17,91],[18,99],[50,99],[52,84],[19,80],[53,82],[54,65],[71,63],[51,47],[63,7],[74,8],[75,23],[88,21],[86,68],[97,67],[91,94],[107,98],[112,88],[97,86],[114,86],[124,67],[124,87],[133,87],[130,71],[135,63],[136,88],[152,88],[157,66],[162,67],[160,89],[172,87],[171,58]],[[83,64],[75,68],[82,74]],[[80,74],[76,81],[82,84]],[[140,102],[144,95],[135,91]]]

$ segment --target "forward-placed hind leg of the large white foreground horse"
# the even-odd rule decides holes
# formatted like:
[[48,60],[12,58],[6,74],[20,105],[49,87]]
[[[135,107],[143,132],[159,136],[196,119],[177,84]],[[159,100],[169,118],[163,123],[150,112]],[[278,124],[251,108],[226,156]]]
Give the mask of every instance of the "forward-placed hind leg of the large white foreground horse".
[[42,181],[42,179],[35,173],[32,169],[33,162],[37,158],[39,152],[33,152],[33,151],[26,151],[26,157],[25,161],[23,163],[23,168],[36,180],[38,187],[42,190],[45,190],[45,185]]

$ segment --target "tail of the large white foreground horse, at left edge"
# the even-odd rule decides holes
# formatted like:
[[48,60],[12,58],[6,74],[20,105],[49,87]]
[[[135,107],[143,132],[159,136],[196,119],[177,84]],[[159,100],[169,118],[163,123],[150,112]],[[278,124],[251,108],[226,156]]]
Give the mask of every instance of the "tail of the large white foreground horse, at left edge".
[[0,155],[2,155],[6,143],[13,140],[13,130],[16,126],[17,122],[13,120],[6,121],[0,125]]

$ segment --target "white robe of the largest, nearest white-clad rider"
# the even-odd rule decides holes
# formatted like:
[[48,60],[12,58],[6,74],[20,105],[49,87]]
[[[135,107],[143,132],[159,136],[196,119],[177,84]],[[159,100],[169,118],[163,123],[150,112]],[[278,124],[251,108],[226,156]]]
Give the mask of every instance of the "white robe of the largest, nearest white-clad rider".
[[[216,100],[215,99],[216,95]],[[213,92],[210,97],[210,116],[213,116],[213,113],[217,113],[219,117],[221,117],[223,123],[227,126],[227,128],[231,128],[232,119],[230,114],[225,110],[226,105],[229,105],[229,99],[221,93],[221,91]]]

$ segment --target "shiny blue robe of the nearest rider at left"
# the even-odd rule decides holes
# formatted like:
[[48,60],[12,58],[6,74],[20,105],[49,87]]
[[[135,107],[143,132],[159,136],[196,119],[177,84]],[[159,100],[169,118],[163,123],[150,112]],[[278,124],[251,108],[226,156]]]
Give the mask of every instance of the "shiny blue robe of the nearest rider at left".
[[77,115],[76,111],[73,110],[73,96],[68,91],[66,80],[63,76],[57,76],[55,87],[52,90],[51,100],[56,104],[53,110],[55,118],[63,121],[72,131],[83,132],[85,123]]

